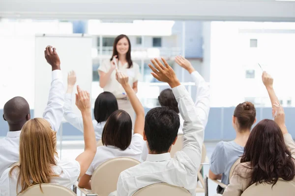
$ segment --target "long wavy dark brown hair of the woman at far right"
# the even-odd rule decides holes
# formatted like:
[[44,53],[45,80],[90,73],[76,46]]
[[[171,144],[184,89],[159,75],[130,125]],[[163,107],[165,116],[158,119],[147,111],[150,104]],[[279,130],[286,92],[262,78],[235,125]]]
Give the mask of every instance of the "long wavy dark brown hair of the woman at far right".
[[262,120],[251,131],[241,163],[250,162],[250,186],[256,182],[275,185],[278,178],[290,181],[295,176],[294,159],[287,148],[280,127],[272,120]]

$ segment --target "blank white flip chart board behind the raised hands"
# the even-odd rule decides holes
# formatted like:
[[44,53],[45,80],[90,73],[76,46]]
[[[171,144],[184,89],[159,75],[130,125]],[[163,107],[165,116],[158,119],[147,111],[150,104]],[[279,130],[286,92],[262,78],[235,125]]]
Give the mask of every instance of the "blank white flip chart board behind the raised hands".
[[[50,45],[57,49],[60,59],[63,84],[67,88],[67,74],[75,71],[76,85],[91,94],[92,82],[92,37],[88,35],[36,35],[35,37],[35,98],[34,118],[42,117],[46,108],[51,85],[51,66],[44,57],[45,48]],[[75,105],[76,86],[72,93],[73,111],[81,115]]]

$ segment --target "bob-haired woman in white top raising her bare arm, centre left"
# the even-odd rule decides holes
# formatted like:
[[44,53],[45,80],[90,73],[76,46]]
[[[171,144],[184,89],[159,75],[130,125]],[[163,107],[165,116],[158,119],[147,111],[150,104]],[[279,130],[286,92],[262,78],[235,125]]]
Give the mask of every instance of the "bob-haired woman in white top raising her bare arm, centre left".
[[128,77],[117,70],[116,79],[124,88],[135,111],[136,119],[132,136],[132,121],[127,112],[117,110],[108,118],[102,132],[102,144],[97,147],[95,157],[79,180],[79,187],[91,189],[90,178],[95,169],[103,162],[117,157],[131,157],[140,160],[145,145],[143,139],[145,111],[134,90],[128,83]]

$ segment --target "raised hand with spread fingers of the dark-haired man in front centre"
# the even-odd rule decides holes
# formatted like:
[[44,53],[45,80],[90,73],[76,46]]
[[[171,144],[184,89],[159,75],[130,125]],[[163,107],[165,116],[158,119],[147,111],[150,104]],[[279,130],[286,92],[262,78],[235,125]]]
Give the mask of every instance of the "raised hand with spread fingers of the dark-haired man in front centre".
[[171,88],[180,85],[174,70],[168,65],[164,58],[162,58],[162,61],[165,66],[157,58],[155,58],[155,60],[151,59],[150,61],[155,66],[154,68],[152,65],[148,64],[148,67],[153,71],[151,74],[154,78],[162,82],[167,82]]

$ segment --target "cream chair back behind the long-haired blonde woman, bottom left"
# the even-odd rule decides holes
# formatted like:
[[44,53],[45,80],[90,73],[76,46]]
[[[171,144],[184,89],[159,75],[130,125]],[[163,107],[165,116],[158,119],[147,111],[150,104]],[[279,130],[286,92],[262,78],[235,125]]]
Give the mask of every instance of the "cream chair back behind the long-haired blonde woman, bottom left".
[[40,185],[36,184],[29,187],[29,189],[19,196],[77,196],[70,189],[58,184],[41,184],[41,187],[43,193],[40,189]]

